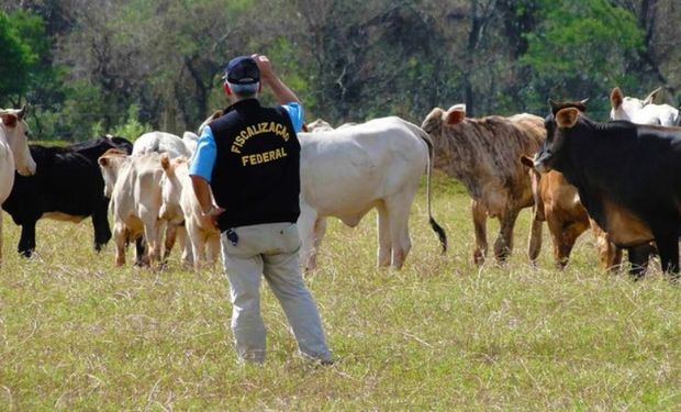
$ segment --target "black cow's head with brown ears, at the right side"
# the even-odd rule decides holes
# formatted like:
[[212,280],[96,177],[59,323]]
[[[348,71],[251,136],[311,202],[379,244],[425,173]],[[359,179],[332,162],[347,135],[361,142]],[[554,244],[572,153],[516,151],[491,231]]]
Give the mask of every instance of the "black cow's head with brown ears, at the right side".
[[[552,170],[566,153],[569,130],[578,123],[582,110],[574,102],[555,102],[549,100],[551,114],[544,121],[546,141],[534,157],[534,167],[539,172]],[[583,103],[582,103],[583,104]]]

